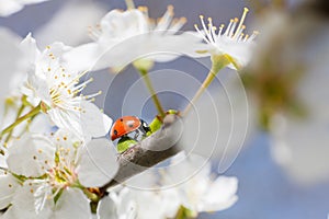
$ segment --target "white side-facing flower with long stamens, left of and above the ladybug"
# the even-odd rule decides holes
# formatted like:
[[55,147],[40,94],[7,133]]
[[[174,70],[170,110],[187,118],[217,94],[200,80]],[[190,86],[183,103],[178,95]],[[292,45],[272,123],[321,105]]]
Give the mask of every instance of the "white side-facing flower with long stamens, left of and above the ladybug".
[[34,106],[41,104],[56,126],[73,130],[80,138],[105,136],[112,119],[91,103],[101,91],[82,95],[92,78],[80,82],[87,72],[76,71],[61,60],[63,53],[71,48],[54,43],[41,53],[31,35],[22,46],[31,55],[31,69],[22,88],[27,101]]

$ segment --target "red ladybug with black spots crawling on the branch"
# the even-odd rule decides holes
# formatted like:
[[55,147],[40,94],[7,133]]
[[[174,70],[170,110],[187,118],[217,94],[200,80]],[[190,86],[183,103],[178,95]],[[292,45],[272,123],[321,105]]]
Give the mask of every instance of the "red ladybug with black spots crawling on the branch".
[[139,132],[144,136],[150,131],[147,123],[136,116],[123,116],[118,118],[111,128],[111,139],[124,137],[135,131],[135,139],[137,139]]

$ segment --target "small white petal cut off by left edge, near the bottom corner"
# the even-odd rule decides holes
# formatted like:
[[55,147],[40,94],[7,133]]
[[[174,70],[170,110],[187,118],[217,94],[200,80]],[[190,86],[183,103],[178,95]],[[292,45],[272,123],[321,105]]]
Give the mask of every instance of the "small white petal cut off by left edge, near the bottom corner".
[[11,174],[0,175],[0,209],[3,209],[11,204],[18,186],[19,183]]

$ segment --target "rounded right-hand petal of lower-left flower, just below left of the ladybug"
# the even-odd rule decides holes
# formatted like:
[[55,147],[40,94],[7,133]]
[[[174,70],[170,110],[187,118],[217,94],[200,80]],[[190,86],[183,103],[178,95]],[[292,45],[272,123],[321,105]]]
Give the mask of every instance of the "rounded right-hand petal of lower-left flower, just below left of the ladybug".
[[93,139],[82,151],[78,177],[86,187],[99,187],[110,182],[117,170],[113,143],[107,139]]

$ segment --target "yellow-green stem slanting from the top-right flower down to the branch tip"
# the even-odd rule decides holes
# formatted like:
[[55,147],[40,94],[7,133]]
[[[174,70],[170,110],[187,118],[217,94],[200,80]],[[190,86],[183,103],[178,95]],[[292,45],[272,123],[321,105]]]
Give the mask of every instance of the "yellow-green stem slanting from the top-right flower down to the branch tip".
[[231,62],[231,58],[227,55],[220,55],[220,56],[213,56],[212,57],[213,66],[212,69],[208,72],[207,78],[203,81],[200,89],[194,94],[192,101],[189,103],[189,105],[185,107],[185,110],[180,114],[182,117],[185,116],[192,108],[192,106],[196,103],[196,101],[201,97],[201,95],[204,93],[204,91],[209,87],[209,84],[213,82],[213,80],[216,78],[216,74]]

